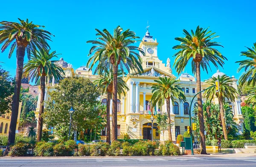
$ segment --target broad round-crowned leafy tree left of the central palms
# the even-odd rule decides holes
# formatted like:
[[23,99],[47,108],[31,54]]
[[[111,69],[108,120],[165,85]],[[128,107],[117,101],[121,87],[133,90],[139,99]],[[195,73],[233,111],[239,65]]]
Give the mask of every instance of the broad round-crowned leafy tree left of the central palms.
[[96,86],[88,79],[82,77],[64,78],[60,81],[55,91],[49,93],[49,101],[46,102],[44,121],[47,126],[56,127],[68,134],[70,124],[69,109],[72,106],[73,113],[71,125],[76,132],[95,127],[95,120],[105,107],[97,101],[100,93]]

